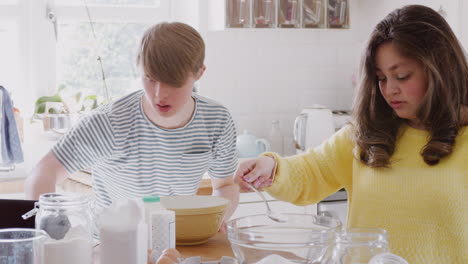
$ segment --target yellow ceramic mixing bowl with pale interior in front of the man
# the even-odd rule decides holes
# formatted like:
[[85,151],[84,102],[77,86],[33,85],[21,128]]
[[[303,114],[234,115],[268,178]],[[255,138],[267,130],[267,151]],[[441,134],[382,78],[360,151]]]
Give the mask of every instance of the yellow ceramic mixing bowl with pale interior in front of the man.
[[210,195],[165,196],[161,204],[175,212],[176,244],[198,245],[218,232],[229,200]]

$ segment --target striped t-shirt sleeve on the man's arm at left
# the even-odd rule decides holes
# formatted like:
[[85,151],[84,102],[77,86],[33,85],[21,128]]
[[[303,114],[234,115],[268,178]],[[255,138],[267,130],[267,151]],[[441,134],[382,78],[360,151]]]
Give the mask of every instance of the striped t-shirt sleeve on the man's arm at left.
[[108,116],[92,112],[84,116],[52,148],[68,173],[89,169],[112,155],[114,133]]

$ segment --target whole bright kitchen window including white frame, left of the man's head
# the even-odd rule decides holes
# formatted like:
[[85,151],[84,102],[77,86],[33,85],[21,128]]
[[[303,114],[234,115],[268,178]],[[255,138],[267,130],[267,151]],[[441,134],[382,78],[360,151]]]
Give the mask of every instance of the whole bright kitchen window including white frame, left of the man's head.
[[60,87],[124,95],[139,84],[141,35],[170,21],[172,6],[170,0],[2,0],[0,85],[25,116],[39,96]]

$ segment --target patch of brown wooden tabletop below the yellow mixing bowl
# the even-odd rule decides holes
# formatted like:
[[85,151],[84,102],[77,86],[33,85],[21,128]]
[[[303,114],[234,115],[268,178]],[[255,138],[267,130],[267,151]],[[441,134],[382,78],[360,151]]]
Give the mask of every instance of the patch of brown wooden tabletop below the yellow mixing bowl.
[[217,233],[206,243],[195,246],[177,246],[182,257],[200,256],[202,260],[219,260],[223,256],[234,257],[226,234]]

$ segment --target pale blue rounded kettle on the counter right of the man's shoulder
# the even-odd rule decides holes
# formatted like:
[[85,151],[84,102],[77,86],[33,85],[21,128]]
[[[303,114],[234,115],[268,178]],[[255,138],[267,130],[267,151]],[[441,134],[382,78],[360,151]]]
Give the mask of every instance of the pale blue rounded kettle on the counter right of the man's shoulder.
[[262,152],[270,151],[270,143],[266,139],[258,139],[247,130],[237,136],[237,156],[239,158],[254,158]]

